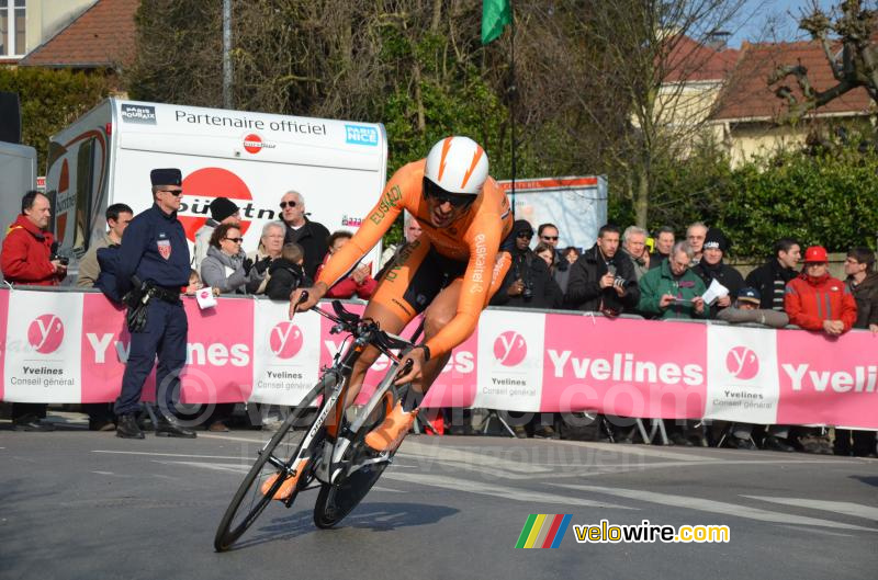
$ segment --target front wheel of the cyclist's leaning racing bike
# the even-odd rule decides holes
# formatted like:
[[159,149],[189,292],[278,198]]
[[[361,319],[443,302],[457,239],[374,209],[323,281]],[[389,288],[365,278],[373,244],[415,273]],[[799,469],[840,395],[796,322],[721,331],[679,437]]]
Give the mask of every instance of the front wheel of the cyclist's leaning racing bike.
[[[307,395],[305,395],[295,410],[293,410],[293,412],[286,417],[274,435],[272,435],[272,437],[269,440],[268,444],[260,451],[259,457],[244,477],[240,486],[238,486],[235,496],[232,498],[232,502],[228,504],[228,508],[226,508],[223,519],[219,521],[219,526],[216,530],[216,536],[214,537],[213,543],[216,551],[225,551],[229,549],[232,545],[256,522],[257,518],[272,501],[272,497],[283,484],[284,478],[275,478],[275,481],[272,484],[269,491],[267,493],[262,493],[262,484],[272,475],[280,473],[278,467],[269,464],[268,467],[270,468],[267,468],[266,464],[269,463],[269,458],[272,456],[274,456],[275,459],[278,458],[274,453],[282,445],[284,446],[284,465],[289,467],[292,464],[293,459],[295,459],[302,448],[305,434],[314,425],[314,422],[312,421],[305,430],[299,431],[293,429],[293,424],[309,409],[308,406],[323,393],[323,383],[318,383]],[[319,413],[315,413],[314,421],[317,420],[318,416]],[[314,440],[312,440],[312,457],[316,456],[314,448],[318,447],[322,442],[322,436],[316,436]],[[299,479],[292,497],[290,500],[286,500],[288,507],[291,505],[295,500],[299,491],[313,480],[315,463],[316,462],[312,460],[306,467],[308,469],[308,474]],[[249,503],[247,503],[247,507],[241,510],[243,504],[248,499]],[[243,519],[236,520],[236,516],[239,515],[240,511],[245,511],[246,514],[243,516]]]

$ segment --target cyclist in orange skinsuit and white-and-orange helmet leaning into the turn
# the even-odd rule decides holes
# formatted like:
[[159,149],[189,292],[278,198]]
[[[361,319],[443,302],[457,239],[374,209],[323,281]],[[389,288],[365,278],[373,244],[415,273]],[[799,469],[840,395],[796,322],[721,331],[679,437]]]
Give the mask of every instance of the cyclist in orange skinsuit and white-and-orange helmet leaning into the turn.
[[[397,170],[362,227],[333,254],[314,286],[292,294],[290,316],[323,298],[403,211],[417,219],[423,232],[387,269],[363,317],[378,321],[382,330],[398,333],[424,312],[425,342],[406,355],[412,367],[397,384],[412,382],[417,390],[426,391],[451,350],[475,330],[509,269],[509,254],[500,251],[513,229],[509,201],[488,175],[485,151],[472,139],[447,137],[425,159]],[[299,304],[303,291],[308,293],[307,299]],[[348,403],[376,356],[369,351],[360,356],[351,375]],[[398,444],[416,414],[417,409],[397,406],[367,435],[367,444],[379,452]]]

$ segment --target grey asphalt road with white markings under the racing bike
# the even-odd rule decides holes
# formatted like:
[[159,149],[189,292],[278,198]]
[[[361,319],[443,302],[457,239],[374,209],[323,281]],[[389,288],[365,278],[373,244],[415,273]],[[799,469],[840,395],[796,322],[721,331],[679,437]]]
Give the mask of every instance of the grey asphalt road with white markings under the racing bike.
[[[7,423],[8,425],[8,423]],[[316,492],[213,550],[264,434],[125,441],[0,427],[0,578],[876,578],[878,460],[410,436],[337,530]],[[514,549],[528,514],[728,525],[728,544]]]

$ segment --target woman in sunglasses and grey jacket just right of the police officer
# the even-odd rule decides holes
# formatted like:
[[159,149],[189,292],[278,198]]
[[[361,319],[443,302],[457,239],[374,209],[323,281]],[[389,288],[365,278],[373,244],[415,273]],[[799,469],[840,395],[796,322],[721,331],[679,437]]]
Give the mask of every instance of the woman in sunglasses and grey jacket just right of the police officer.
[[241,250],[244,242],[236,224],[222,224],[211,235],[207,255],[201,262],[201,281],[205,286],[219,288],[223,294],[246,294],[252,261]]

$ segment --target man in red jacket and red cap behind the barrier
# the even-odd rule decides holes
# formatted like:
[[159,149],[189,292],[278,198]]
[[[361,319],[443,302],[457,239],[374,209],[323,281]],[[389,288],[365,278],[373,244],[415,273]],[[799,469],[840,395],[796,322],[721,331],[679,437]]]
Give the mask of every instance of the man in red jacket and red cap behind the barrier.
[[784,309],[789,322],[806,330],[837,337],[857,319],[857,303],[844,282],[829,274],[826,250],[811,246],[804,251],[804,270],[787,283]]

